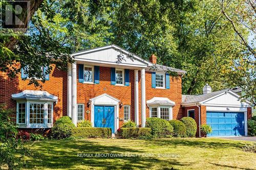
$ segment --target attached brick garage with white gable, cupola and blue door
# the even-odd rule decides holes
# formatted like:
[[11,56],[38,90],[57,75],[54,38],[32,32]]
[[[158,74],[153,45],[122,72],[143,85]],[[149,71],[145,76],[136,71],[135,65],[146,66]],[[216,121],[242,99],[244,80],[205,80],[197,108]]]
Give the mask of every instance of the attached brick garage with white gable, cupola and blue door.
[[251,104],[240,101],[240,95],[230,89],[211,92],[205,85],[203,94],[182,95],[183,116],[194,113],[197,135],[201,125],[207,124],[212,133],[207,136],[247,136],[247,119],[251,118]]

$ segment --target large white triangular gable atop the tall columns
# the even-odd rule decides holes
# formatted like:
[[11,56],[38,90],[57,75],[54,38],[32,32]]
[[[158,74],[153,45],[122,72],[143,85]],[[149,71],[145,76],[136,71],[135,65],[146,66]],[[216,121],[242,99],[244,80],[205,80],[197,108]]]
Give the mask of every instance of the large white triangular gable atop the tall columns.
[[73,53],[72,56],[77,61],[95,62],[101,64],[130,65],[147,67],[151,63],[130,53],[117,45],[108,45],[91,50]]

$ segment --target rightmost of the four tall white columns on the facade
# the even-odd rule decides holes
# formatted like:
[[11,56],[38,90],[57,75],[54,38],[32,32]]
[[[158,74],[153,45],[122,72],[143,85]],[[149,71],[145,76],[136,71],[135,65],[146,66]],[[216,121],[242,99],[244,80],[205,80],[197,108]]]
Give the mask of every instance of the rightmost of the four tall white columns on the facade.
[[146,123],[146,86],[145,86],[145,68],[141,69],[141,126]]

